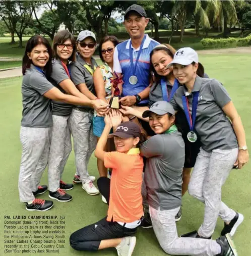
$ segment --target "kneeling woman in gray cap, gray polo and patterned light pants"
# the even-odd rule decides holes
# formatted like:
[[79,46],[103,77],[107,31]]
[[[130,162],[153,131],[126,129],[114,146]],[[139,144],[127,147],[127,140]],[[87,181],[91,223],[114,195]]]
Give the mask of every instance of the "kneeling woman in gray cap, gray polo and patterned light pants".
[[145,183],[152,225],[162,249],[173,255],[235,256],[229,235],[211,239],[178,237],[175,223],[181,206],[185,144],[174,124],[170,103],[157,101],[143,113],[156,135],[140,147],[147,158]]

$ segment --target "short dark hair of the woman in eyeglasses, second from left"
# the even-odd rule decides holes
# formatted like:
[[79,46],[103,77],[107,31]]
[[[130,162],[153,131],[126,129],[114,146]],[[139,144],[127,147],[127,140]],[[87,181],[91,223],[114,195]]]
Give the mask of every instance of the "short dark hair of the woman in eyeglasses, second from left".
[[69,58],[70,61],[76,61],[76,52],[77,52],[77,45],[76,40],[72,33],[68,30],[62,30],[55,34],[52,42],[52,50],[53,50],[53,57],[56,59],[60,59],[56,53],[56,46],[60,43],[64,43],[66,40],[70,39],[73,44],[73,53]]

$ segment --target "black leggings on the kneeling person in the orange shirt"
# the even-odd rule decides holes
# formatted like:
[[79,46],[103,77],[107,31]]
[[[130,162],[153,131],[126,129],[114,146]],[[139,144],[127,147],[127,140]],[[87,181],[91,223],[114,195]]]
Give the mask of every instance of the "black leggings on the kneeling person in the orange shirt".
[[[110,179],[100,177],[97,184],[100,193],[109,203]],[[102,240],[131,236],[137,231],[137,228],[125,228],[117,222],[107,221],[106,218],[74,232],[70,236],[70,245],[75,250],[96,251]]]

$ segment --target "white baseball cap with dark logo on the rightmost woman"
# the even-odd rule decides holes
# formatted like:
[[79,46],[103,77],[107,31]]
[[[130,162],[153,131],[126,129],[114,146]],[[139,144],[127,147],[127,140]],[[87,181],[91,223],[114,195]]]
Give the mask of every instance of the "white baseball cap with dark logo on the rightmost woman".
[[170,67],[173,64],[180,64],[186,66],[193,62],[199,63],[198,54],[191,47],[184,47],[177,50],[177,52],[173,56],[172,62],[170,62],[167,67]]

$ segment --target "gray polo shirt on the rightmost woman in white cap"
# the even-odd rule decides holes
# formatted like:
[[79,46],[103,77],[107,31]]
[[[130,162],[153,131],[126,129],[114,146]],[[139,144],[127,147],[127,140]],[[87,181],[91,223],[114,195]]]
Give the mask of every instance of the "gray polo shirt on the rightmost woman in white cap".
[[[195,80],[193,91],[199,91],[199,102],[196,114],[195,130],[199,134],[202,148],[211,152],[213,149],[232,149],[238,147],[236,135],[222,108],[229,103],[226,89],[216,79],[198,77]],[[181,108],[182,96],[188,94],[189,111],[192,115],[193,95],[189,94],[185,86],[181,86],[170,100],[175,110]]]

